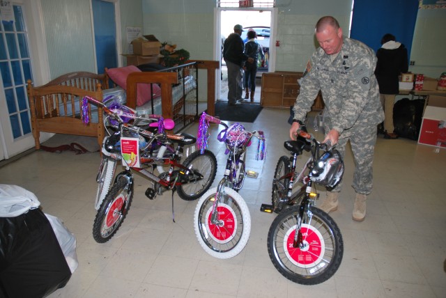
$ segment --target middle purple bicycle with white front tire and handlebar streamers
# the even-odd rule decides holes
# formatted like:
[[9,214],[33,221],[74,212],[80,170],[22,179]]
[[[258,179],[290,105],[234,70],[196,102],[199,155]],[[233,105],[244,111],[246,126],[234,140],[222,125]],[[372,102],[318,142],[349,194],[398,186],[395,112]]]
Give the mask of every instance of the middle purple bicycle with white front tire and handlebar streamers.
[[233,258],[242,251],[251,232],[251,216],[245,200],[238,194],[246,176],[256,178],[254,171],[246,171],[247,147],[255,136],[259,139],[256,159],[265,157],[265,136],[261,131],[248,132],[243,125],[226,125],[217,118],[203,113],[197,134],[197,148],[206,148],[208,123],[223,125],[217,139],[226,144],[226,167],[217,187],[209,189],[197,203],[194,212],[194,230],[199,244],[210,256]]

